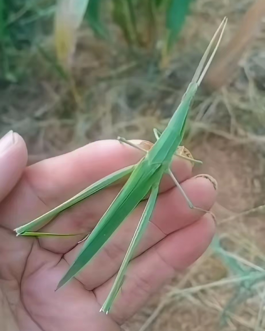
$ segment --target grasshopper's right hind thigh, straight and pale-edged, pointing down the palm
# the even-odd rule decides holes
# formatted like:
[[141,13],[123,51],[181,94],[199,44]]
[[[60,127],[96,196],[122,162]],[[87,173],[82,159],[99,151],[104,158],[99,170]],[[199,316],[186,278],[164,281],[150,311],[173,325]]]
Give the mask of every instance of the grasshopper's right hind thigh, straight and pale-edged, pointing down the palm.
[[122,286],[123,280],[124,280],[124,275],[128,266],[128,263],[130,262],[130,260],[133,257],[133,253],[135,251],[135,248],[137,247],[137,245],[139,244],[140,239],[142,238],[142,235],[144,234],[147,225],[149,223],[149,220],[152,216],[154,207],[155,207],[155,203],[156,203],[156,199],[157,199],[157,195],[158,195],[158,187],[159,187],[159,182],[156,183],[152,189],[151,189],[151,194],[150,197],[147,201],[146,207],[144,209],[144,212],[142,214],[142,217],[140,219],[140,222],[136,228],[136,231],[133,235],[133,239],[131,241],[131,244],[128,248],[128,251],[125,255],[125,258],[122,262],[122,265],[120,267],[120,270],[117,274],[117,277],[115,279],[115,282],[109,292],[109,295],[106,299],[106,301],[104,302],[101,310],[104,311],[106,314],[108,313],[109,309],[111,308],[115,298],[118,295],[118,292]]

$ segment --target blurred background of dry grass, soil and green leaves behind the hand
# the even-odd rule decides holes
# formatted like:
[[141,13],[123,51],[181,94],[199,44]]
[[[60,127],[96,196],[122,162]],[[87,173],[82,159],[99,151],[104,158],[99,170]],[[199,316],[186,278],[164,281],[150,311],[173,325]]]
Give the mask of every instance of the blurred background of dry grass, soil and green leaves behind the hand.
[[[117,135],[154,142],[228,16],[185,137],[194,172],[218,181],[218,240],[124,330],[264,330],[263,3],[247,16],[253,0],[90,0],[58,39],[54,0],[0,0],[0,132],[23,136],[29,165]],[[57,28],[72,23],[62,8]]]

